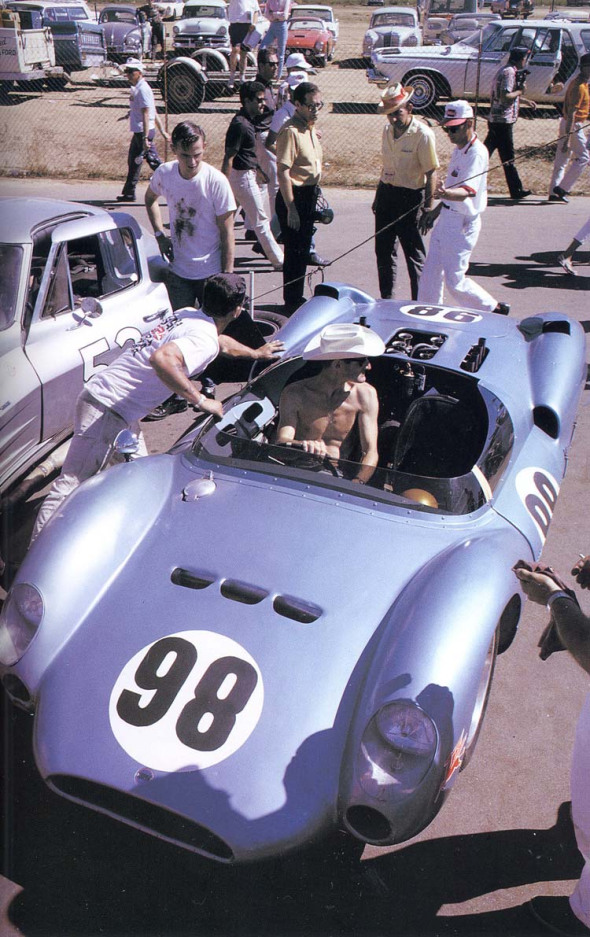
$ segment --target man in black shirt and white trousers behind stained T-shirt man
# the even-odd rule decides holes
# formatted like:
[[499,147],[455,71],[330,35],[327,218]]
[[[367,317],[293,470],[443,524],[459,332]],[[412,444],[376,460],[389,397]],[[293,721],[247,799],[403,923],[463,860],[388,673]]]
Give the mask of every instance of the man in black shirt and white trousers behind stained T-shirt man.
[[241,110],[231,121],[225,136],[221,171],[228,177],[236,201],[244,209],[265,256],[275,270],[283,268],[283,251],[270,230],[260,186],[256,179],[256,126],[264,110],[264,85],[247,81],[240,87]]

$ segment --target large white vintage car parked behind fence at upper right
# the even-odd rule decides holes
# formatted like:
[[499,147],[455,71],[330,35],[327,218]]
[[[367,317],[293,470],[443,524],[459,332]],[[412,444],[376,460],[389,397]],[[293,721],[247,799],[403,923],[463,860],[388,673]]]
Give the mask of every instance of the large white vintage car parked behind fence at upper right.
[[531,50],[527,98],[555,104],[563,100],[563,85],[580,56],[590,51],[590,28],[552,20],[494,21],[454,45],[377,50],[367,75],[369,81],[412,85],[415,110],[430,108],[439,98],[474,98],[478,87],[479,99],[486,101],[494,75],[508,62],[513,46]]

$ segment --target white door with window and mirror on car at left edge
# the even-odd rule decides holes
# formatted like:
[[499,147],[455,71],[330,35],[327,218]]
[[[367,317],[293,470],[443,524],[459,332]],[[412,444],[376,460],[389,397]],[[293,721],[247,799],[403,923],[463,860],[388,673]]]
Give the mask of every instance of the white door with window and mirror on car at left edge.
[[[84,383],[141,337],[145,306],[136,232],[116,216],[58,225],[25,352],[42,386],[42,439],[71,425]],[[84,307],[90,314],[84,313]]]

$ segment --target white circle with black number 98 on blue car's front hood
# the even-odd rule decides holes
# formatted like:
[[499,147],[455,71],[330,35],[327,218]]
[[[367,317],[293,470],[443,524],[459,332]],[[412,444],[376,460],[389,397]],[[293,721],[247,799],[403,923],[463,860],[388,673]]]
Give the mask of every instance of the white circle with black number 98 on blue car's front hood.
[[208,768],[256,727],[264,699],[256,661],[211,631],[181,631],[142,648],[121,671],[109,705],[113,734],[155,771]]

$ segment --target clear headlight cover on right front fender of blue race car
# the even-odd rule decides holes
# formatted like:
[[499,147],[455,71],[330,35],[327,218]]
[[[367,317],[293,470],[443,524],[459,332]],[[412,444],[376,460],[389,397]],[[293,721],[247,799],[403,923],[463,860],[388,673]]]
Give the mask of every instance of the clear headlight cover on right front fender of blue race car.
[[413,700],[386,703],[365,729],[358,755],[358,779],[376,800],[411,794],[436,754],[436,727]]

